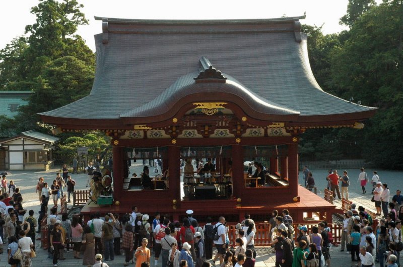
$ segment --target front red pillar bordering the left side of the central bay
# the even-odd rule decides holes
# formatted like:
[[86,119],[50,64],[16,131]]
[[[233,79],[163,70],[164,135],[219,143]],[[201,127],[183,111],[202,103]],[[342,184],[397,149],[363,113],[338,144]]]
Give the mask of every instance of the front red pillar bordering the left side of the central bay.
[[[176,205],[180,205],[180,149],[177,146],[168,147],[168,168],[169,168],[169,191],[171,199],[166,200],[172,204],[172,201],[176,199]],[[173,205],[173,204],[172,204]],[[178,214],[174,214],[174,220],[178,220]]]

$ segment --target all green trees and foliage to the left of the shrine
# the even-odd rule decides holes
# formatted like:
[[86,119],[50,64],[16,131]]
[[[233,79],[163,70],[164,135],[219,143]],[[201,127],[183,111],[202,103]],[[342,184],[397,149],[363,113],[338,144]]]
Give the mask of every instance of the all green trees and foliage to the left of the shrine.
[[[33,91],[28,105],[14,120],[0,118],[0,137],[10,130],[35,129],[50,133],[37,113],[60,108],[87,96],[94,81],[95,55],[77,35],[88,24],[76,0],[40,0],[31,9],[36,22],[25,27],[26,36],[13,39],[0,50],[0,90]],[[80,112],[80,111],[77,111]],[[56,156],[71,163],[78,146],[88,146],[90,158],[104,155],[108,138],[102,133],[64,133]]]

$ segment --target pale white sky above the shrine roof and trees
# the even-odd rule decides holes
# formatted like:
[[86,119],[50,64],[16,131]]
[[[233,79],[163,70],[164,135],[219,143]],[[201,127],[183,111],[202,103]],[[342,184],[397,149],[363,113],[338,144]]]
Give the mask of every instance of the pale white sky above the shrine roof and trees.
[[[101,21],[94,16],[125,19],[268,19],[302,16],[301,23],[321,26],[323,33],[340,32],[345,27],[339,19],[346,14],[348,0],[78,0],[89,25],[81,26],[80,34],[95,51],[94,35],[101,33]],[[2,0],[0,49],[14,37],[24,34],[25,26],[35,22],[30,13],[38,0]]]

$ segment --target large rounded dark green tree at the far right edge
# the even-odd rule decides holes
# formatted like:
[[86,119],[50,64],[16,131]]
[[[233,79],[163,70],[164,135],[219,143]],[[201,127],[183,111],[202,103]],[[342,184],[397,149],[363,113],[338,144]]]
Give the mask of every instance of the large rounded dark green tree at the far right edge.
[[338,96],[379,107],[365,123],[360,145],[368,160],[386,168],[403,168],[402,35],[403,3],[385,1],[355,21],[331,62]]

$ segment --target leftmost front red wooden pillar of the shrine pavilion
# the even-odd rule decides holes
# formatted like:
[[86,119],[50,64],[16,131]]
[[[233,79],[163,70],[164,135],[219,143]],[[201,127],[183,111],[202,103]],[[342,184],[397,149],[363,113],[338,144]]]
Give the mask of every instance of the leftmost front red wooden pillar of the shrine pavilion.
[[[123,147],[116,145],[112,146],[112,159],[113,159],[113,199],[120,201],[123,191]],[[127,163],[126,163],[127,165]]]

